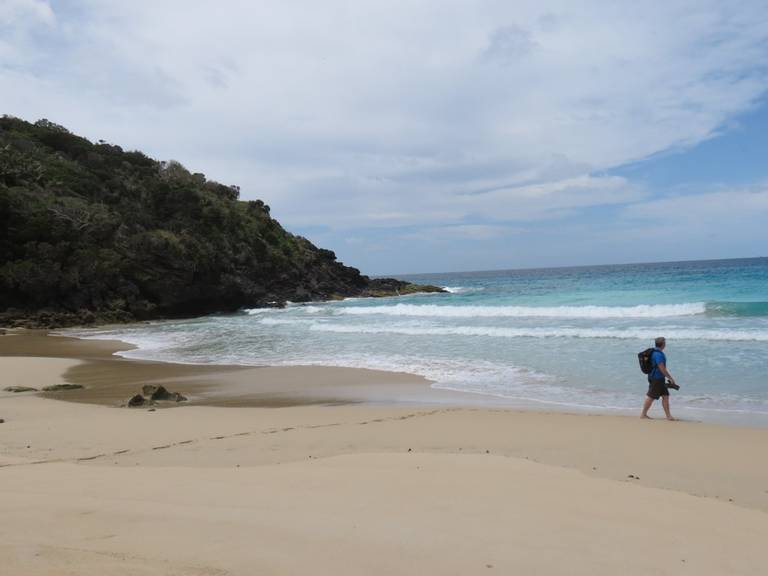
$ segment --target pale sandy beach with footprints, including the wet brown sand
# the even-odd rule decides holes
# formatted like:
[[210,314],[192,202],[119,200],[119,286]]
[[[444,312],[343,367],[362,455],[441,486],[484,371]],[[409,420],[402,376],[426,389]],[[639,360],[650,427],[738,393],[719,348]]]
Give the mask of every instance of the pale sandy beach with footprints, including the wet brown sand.
[[[519,412],[371,370],[0,336],[13,575],[764,574],[768,430]],[[181,405],[120,405],[143,384]],[[69,400],[69,401],[61,401]]]

